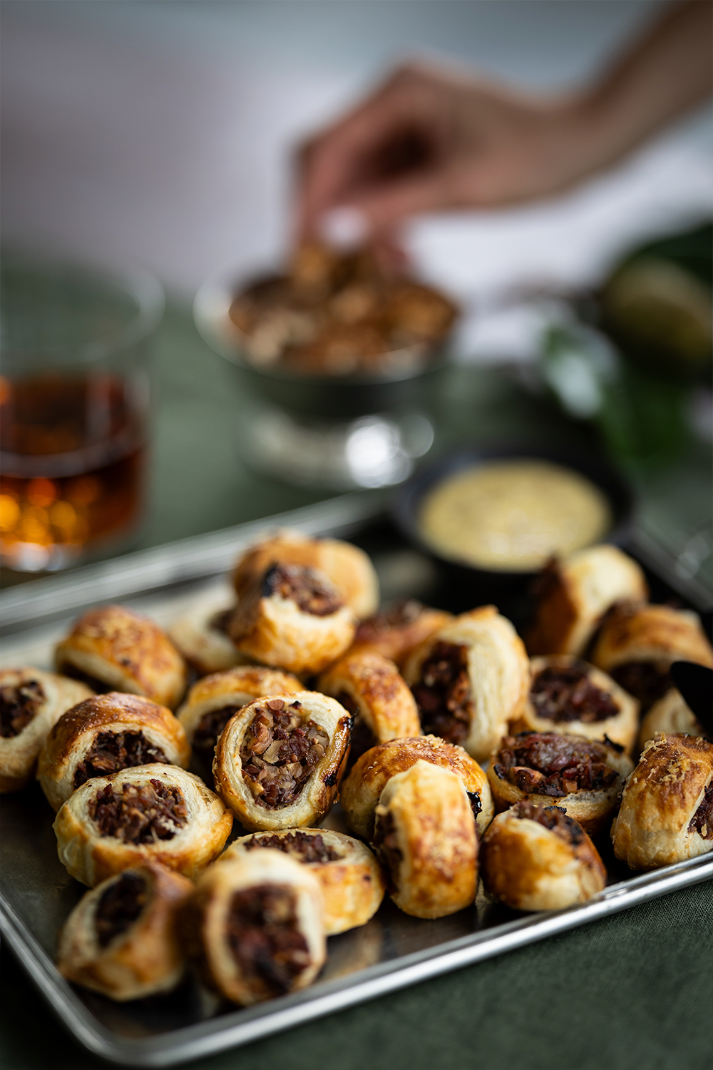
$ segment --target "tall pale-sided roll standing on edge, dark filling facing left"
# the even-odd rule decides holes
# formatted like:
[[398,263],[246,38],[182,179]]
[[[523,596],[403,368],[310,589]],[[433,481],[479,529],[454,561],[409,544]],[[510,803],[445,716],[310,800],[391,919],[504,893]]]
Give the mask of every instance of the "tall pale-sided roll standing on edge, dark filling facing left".
[[530,664],[520,636],[494,606],[456,616],[407,659],[423,732],[483,762],[522,712]]

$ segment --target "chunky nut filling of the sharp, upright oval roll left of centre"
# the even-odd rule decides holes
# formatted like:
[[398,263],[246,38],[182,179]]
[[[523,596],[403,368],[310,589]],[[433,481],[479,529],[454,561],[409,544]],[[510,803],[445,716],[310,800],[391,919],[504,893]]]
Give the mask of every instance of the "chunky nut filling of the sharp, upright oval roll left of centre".
[[243,776],[259,806],[277,810],[294,802],[329,746],[327,733],[305,720],[301,708],[267,699],[245,734]]

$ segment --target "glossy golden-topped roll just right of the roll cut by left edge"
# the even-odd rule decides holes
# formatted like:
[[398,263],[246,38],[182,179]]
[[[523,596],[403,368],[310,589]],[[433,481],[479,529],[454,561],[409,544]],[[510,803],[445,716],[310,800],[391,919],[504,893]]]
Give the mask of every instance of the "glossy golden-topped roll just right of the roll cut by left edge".
[[93,777],[162,762],[190,761],[183,725],[170,709],[138,694],[93,694],[68,709],[45,739],[37,779],[50,806],[59,810]]

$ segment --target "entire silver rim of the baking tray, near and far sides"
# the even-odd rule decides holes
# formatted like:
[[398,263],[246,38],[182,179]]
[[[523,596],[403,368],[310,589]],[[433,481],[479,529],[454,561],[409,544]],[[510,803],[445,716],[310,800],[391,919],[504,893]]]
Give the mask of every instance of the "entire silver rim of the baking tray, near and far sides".
[[[42,627],[60,616],[72,615],[114,597],[161,591],[168,594],[221,575],[232,563],[236,550],[269,529],[292,526],[306,534],[346,535],[384,514],[383,491],[359,491],[84,565],[66,575],[19,584],[0,597],[0,633],[20,636],[31,627]],[[687,583],[676,576],[663,550],[647,545],[646,540],[640,541],[637,535],[640,533],[630,540],[633,552],[699,611],[709,609],[707,599],[701,598],[701,591],[697,590],[701,585]],[[706,854],[609,885],[587,903],[564,911],[525,915],[258,1007],[236,1009],[219,1018],[136,1040],[121,1037],[95,1018],[1,895],[0,932],[52,1010],[86,1049],[111,1063],[167,1067],[249,1043],[711,878],[713,854]]]

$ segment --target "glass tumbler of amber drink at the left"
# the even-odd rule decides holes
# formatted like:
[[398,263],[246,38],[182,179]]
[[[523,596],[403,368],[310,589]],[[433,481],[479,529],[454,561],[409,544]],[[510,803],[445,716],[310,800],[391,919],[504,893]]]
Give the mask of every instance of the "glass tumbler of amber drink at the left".
[[7,258],[0,301],[0,556],[60,569],[140,519],[164,293],[142,272]]

